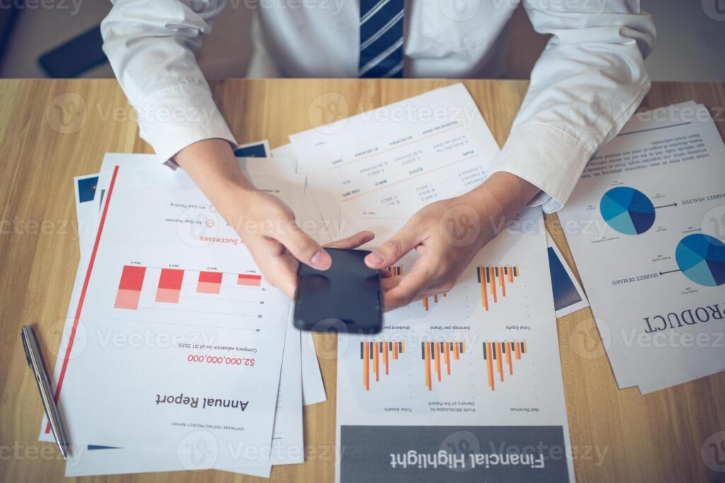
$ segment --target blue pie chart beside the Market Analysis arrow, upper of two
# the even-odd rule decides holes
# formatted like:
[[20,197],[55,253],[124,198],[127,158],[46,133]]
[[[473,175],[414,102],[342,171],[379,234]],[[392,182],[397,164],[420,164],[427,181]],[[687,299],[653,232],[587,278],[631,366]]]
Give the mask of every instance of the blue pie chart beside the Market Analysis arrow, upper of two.
[[602,196],[602,218],[624,235],[639,235],[655,224],[655,206],[642,191],[619,186]]

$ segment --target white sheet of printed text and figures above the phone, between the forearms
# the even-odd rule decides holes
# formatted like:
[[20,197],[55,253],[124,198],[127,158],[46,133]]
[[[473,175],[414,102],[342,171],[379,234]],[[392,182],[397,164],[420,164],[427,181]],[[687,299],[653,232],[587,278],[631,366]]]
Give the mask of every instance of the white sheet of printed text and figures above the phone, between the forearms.
[[463,84],[290,139],[323,219],[340,220],[334,239],[360,230],[389,238],[426,204],[480,185],[500,151]]

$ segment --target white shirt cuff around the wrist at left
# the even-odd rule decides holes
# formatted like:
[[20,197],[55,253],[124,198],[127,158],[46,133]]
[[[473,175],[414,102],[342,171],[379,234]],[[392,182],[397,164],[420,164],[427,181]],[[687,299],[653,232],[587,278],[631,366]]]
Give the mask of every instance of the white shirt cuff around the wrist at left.
[[171,157],[200,140],[221,138],[237,145],[207,85],[173,85],[145,98],[136,110],[139,135],[167,166],[175,167]]

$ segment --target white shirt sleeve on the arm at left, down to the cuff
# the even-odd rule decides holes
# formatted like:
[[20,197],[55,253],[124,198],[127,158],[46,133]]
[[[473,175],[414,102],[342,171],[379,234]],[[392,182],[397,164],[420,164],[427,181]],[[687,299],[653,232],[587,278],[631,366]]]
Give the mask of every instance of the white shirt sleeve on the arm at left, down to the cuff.
[[101,23],[103,50],[162,162],[196,141],[236,140],[194,52],[223,0],[118,0]]

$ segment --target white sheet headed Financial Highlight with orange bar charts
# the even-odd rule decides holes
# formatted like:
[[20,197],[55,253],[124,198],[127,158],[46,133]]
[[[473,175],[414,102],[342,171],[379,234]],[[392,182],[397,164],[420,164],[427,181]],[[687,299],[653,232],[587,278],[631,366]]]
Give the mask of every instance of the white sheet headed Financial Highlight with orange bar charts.
[[541,210],[510,227],[446,295],[339,336],[337,481],[573,481]]

